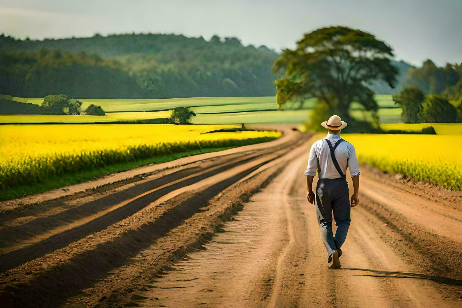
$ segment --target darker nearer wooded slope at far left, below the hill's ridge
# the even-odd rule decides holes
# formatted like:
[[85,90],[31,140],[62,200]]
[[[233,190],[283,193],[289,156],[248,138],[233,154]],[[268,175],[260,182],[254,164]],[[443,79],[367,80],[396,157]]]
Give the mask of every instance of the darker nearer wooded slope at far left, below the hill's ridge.
[[61,51],[0,52],[0,93],[16,97],[137,98],[142,89],[115,60]]

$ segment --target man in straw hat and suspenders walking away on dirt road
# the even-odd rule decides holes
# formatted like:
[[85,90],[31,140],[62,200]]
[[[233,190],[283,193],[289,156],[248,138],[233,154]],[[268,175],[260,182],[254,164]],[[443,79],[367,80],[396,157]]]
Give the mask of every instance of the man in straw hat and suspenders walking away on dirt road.
[[[351,143],[340,138],[340,131],[346,127],[338,115],[333,115],[321,126],[328,129],[325,139],[316,141],[310,150],[308,169],[305,170],[308,186],[308,202],[315,204],[316,215],[321,229],[321,237],[328,253],[328,267],[340,268],[340,247],[346,239],[350,227],[350,207],[358,205],[359,164],[356,151]],[[312,190],[313,179],[319,176],[316,194]],[[348,199],[346,168],[350,169],[354,193],[351,205]],[[337,231],[332,234],[332,212]]]

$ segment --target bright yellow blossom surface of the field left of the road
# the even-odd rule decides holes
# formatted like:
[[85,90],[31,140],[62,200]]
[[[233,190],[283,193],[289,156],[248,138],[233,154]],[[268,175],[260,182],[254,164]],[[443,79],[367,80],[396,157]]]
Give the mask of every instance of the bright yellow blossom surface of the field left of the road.
[[[0,161],[55,153],[116,150],[135,145],[195,140],[279,137],[279,132],[207,133],[236,125],[49,124],[0,126]],[[239,126],[240,127],[240,126]]]

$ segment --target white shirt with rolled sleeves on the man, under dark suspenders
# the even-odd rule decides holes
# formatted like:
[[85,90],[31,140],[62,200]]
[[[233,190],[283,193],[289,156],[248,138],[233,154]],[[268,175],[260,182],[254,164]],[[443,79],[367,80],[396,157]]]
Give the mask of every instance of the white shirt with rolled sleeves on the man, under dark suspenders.
[[[340,177],[339,172],[335,169],[334,163],[332,162],[332,157],[330,157],[330,149],[327,144],[327,142],[330,142],[332,147],[334,147],[335,143],[340,139],[340,136],[328,133],[326,139],[328,139],[328,141],[321,139],[311,146],[310,158],[308,159],[308,167],[305,170],[305,175],[315,176],[317,168],[320,179],[336,179]],[[360,174],[356,151],[351,143],[342,141],[335,149],[334,155],[344,175],[346,175],[346,168],[350,168],[351,176]]]

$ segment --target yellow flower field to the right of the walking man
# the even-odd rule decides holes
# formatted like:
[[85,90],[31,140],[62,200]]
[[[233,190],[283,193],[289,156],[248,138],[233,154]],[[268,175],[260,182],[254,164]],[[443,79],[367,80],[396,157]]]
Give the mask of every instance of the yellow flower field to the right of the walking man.
[[462,190],[462,135],[342,134],[359,161]]

